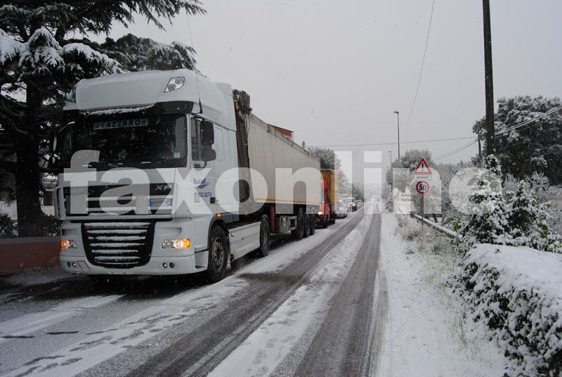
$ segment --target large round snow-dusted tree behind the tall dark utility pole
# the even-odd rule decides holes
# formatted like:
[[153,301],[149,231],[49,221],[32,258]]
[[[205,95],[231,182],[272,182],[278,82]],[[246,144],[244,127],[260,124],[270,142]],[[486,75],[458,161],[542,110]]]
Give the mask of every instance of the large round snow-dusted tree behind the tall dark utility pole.
[[[502,162],[502,172],[513,174],[518,179],[530,177],[534,172],[543,172],[551,184],[562,184],[562,170],[559,169],[562,165],[560,98],[499,98],[497,106],[495,131],[499,134],[495,137],[494,147]],[[511,128],[518,124],[523,126]],[[474,124],[473,132],[485,144],[483,120]]]

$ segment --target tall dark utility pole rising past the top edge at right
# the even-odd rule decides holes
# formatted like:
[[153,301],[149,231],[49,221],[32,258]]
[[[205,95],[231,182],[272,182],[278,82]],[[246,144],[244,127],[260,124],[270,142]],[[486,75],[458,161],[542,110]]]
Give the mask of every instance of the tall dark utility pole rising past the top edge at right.
[[484,13],[484,72],[486,85],[486,155],[494,154],[494,81],[492,79],[492,28],[490,0],[482,0]]

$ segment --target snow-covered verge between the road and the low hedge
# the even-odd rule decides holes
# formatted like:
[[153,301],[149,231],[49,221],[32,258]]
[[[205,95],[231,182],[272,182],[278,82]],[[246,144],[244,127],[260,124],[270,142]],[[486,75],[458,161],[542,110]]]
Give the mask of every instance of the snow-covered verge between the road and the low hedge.
[[458,262],[450,245],[403,215],[382,217],[379,268],[386,274],[388,322],[377,375],[503,376],[502,351],[445,288]]

